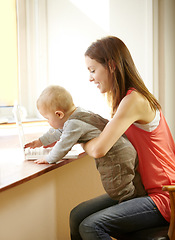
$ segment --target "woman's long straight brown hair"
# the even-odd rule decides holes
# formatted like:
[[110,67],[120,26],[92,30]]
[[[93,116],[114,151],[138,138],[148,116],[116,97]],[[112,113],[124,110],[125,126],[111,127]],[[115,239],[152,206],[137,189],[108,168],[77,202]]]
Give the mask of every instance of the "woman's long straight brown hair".
[[108,68],[109,76],[112,78],[112,88],[107,92],[107,99],[111,106],[112,116],[122,98],[126,96],[127,91],[131,88],[145,96],[152,109],[161,108],[156,98],[146,88],[128,48],[119,38],[109,36],[97,40],[89,46],[85,56]]

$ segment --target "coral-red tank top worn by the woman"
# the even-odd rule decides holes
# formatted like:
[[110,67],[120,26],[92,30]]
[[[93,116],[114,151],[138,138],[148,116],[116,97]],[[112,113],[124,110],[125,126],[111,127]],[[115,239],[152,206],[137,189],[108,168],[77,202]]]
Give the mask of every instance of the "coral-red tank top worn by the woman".
[[132,124],[125,134],[137,150],[138,171],[148,195],[170,221],[169,193],[162,191],[162,186],[175,184],[175,143],[163,113],[160,111],[159,126],[152,132]]

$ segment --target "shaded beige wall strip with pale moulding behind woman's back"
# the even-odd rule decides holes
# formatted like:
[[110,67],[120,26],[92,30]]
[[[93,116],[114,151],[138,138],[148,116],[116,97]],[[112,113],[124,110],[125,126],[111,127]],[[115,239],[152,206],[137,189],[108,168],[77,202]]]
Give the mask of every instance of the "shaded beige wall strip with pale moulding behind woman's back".
[[175,1],[154,0],[154,94],[175,138]]

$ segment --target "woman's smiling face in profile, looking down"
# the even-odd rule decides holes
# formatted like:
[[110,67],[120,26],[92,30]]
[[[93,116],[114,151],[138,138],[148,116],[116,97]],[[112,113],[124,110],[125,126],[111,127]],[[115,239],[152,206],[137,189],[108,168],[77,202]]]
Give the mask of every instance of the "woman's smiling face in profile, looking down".
[[101,93],[108,92],[111,89],[111,78],[107,67],[88,56],[85,56],[85,63],[90,72],[89,81],[94,82]]

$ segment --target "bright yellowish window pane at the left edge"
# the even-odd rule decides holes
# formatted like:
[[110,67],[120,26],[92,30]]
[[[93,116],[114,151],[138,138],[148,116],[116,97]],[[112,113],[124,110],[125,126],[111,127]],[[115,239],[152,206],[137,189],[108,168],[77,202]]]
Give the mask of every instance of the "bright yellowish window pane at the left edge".
[[0,123],[12,119],[10,106],[18,98],[15,9],[15,1],[0,3]]

